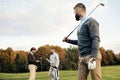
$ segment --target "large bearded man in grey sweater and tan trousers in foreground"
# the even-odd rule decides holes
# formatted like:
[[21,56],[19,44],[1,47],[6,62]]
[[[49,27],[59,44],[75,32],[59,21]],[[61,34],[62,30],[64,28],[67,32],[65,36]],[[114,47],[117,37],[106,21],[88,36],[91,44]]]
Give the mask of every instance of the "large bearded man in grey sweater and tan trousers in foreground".
[[95,19],[86,16],[86,7],[82,3],[75,5],[74,12],[76,20],[81,21],[77,29],[78,40],[71,40],[65,37],[63,41],[78,45],[80,54],[78,80],[87,80],[89,72],[92,80],[102,80],[99,24]]

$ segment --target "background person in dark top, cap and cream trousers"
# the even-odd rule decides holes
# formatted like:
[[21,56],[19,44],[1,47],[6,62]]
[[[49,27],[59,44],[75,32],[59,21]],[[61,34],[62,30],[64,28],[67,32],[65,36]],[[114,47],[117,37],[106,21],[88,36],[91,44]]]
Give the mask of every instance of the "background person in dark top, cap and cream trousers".
[[36,52],[36,48],[32,47],[30,49],[30,52],[28,53],[28,69],[30,71],[30,76],[29,76],[29,80],[35,80],[36,77],[36,60],[35,60],[35,56],[34,56],[34,52]]

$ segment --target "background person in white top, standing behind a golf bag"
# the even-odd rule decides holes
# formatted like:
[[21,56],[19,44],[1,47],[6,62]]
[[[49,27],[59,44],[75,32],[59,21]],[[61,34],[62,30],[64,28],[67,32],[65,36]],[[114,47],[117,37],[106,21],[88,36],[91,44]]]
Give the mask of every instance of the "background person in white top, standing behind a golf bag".
[[48,72],[49,80],[59,80],[59,56],[58,54],[51,49],[50,59],[46,58],[50,63],[50,68]]

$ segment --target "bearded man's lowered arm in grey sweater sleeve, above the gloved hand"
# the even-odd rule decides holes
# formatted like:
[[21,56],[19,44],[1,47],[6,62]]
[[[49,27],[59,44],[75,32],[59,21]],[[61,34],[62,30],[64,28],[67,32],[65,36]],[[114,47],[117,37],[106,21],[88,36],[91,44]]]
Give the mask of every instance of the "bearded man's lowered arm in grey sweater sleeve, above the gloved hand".
[[90,22],[89,33],[92,40],[91,57],[97,57],[99,51],[100,38],[99,38],[99,24],[95,20],[92,20]]

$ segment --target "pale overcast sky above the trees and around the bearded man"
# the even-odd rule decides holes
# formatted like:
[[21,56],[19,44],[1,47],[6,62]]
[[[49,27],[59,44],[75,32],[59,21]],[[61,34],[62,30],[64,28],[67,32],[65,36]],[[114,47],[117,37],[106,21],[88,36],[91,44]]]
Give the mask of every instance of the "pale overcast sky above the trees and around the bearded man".
[[[100,46],[120,52],[120,0],[0,0],[0,48],[29,50],[50,44],[69,47],[62,39],[80,22],[75,21],[73,7],[86,5],[87,14],[100,24]],[[70,36],[77,39],[76,31]]]

